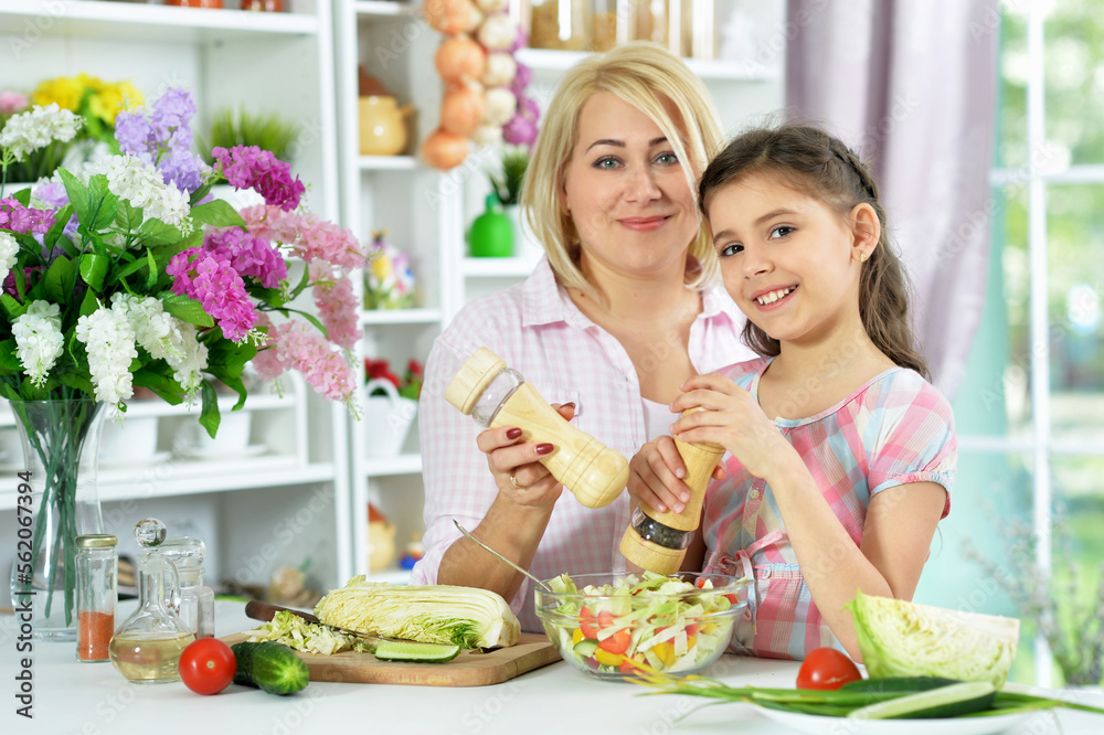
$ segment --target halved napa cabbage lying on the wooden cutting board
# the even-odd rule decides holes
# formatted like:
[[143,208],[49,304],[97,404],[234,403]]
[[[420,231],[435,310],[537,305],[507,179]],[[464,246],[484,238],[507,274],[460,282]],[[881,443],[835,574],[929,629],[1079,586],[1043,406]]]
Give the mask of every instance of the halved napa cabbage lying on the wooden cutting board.
[[322,622],[384,638],[464,648],[513,646],[521,624],[502,596],[454,585],[389,585],[355,576],[315,606]]

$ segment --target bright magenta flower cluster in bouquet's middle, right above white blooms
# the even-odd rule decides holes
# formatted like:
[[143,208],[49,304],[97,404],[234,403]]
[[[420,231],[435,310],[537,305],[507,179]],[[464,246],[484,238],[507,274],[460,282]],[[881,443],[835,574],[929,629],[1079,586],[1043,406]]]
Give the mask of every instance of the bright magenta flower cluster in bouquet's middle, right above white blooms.
[[172,292],[199,301],[226,339],[241,342],[248,335],[257,312],[229,260],[190,247],[173,255],[164,270],[176,278]]

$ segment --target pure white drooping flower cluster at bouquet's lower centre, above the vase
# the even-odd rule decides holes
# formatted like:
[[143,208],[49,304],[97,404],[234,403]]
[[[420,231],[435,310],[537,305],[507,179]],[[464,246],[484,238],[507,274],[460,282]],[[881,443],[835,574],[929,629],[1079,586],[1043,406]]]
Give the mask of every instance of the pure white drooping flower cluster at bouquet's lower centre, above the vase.
[[88,353],[88,370],[96,398],[117,404],[134,395],[130,361],[138,356],[135,330],[126,308],[116,303],[102,307],[76,322],[76,338]]

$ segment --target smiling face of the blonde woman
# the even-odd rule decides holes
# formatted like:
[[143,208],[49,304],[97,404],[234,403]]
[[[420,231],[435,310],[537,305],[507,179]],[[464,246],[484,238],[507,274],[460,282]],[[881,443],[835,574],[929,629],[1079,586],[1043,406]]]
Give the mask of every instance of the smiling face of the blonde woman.
[[588,276],[683,267],[699,226],[686,173],[659,126],[616,95],[583,105],[562,195]]

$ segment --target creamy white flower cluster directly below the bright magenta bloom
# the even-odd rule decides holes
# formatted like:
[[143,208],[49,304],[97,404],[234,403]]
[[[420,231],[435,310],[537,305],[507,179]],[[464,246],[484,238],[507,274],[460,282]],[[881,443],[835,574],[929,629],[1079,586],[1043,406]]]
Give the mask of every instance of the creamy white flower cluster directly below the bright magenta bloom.
[[112,302],[115,310],[126,315],[138,344],[155,360],[169,363],[172,377],[191,398],[203,381],[208,358],[206,347],[195,338],[195,327],[166,313],[161,301],[153,297],[115,294]]

